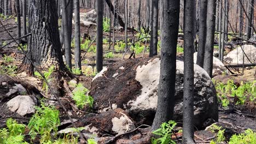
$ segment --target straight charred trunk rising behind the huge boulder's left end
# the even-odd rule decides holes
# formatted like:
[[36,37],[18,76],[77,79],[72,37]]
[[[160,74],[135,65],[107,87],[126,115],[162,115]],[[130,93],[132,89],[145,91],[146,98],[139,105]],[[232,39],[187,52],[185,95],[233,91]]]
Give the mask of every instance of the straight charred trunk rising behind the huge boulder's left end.
[[96,37],[96,69],[103,68],[103,0],[97,0],[97,37]]

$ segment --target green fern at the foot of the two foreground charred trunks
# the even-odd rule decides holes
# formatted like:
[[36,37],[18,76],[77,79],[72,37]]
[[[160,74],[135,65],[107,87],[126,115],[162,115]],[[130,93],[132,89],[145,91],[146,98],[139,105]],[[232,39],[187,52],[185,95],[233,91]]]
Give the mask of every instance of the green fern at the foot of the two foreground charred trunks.
[[176,143],[175,141],[173,141],[171,139],[171,135],[173,134],[173,128],[177,125],[176,122],[174,121],[169,121],[168,123],[162,123],[160,125],[160,128],[153,131],[152,133],[158,136],[161,136],[158,139],[155,139],[154,137],[152,137],[152,143],[153,144],[168,144],[168,143]]

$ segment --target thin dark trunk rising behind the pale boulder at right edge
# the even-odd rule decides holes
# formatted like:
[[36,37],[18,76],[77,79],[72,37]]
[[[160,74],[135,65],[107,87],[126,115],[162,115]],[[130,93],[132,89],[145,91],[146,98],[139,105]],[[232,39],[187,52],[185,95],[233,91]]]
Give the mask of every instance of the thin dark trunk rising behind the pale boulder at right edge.
[[247,39],[251,38],[252,34],[252,23],[253,23],[253,13],[254,13],[254,0],[249,0],[249,11],[248,11],[248,18],[247,19]]

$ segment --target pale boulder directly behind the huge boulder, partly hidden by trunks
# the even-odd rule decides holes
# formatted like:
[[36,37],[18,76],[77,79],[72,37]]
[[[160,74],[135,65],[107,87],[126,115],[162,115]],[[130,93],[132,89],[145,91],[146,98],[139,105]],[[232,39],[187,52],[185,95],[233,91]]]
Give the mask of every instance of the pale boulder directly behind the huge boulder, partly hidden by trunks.
[[[194,63],[196,64],[197,60],[197,52],[194,53]],[[213,69],[212,76],[221,75],[223,73],[228,73],[228,69],[226,69],[225,65],[218,58],[213,57]]]

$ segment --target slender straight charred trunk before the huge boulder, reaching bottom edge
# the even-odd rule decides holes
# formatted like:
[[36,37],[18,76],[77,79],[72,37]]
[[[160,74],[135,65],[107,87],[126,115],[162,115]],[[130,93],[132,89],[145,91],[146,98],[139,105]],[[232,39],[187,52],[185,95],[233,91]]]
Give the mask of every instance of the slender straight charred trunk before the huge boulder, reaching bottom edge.
[[[202,1],[202,0],[201,0]],[[182,143],[194,142],[194,1],[184,0],[184,89]]]

